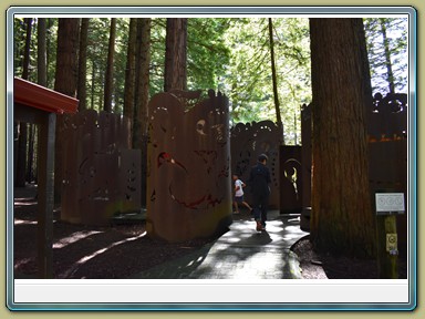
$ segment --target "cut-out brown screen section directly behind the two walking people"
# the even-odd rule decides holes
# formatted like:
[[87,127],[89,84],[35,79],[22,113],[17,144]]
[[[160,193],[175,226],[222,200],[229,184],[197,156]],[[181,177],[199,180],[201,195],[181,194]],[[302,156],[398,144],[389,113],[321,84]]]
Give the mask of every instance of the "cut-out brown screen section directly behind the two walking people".
[[301,146],[280,145],[281,136],[272,121],[238,123],[230,131],[231,167],[247,184],[245,197],[251,203],[249,172],[257,164],[258,155],[267,154],[267,166],[270,168],[272,185],[269,199],[270,209],[281,214],[300,213],[301,183]]

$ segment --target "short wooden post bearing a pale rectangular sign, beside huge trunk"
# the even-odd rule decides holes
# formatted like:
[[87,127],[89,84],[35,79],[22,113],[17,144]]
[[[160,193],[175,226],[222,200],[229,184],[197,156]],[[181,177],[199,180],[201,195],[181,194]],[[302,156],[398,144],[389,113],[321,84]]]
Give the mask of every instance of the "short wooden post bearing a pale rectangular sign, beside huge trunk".
[[[405,213],[403,193],[376,193],[377,270],[382,279],[398,279],[397,215]],[[385,243],[385,244],[384,244]]]

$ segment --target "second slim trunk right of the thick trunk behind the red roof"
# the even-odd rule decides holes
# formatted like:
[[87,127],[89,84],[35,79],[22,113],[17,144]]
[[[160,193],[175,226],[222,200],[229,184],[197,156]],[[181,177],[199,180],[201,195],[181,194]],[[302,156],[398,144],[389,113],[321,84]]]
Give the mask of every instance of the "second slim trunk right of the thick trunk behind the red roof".
[[114,54],[115,54],[115,37],[116,37],[116,18],[111,18],[110,28],[110,45],[107,50],[105,89],[103,97],[103,110],[112,112],[112,91],[114,89]]

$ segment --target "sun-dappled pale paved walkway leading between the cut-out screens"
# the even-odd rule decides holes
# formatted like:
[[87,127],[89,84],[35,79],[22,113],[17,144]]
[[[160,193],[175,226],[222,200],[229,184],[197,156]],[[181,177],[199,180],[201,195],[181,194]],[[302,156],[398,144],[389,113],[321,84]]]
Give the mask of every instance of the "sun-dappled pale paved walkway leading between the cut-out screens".
[[132,276],[132,279],[301,279],[290,247],[308,235],[298,216],[269,212],[267,231],[253,220],[235,220],[216,241],[184,257]]

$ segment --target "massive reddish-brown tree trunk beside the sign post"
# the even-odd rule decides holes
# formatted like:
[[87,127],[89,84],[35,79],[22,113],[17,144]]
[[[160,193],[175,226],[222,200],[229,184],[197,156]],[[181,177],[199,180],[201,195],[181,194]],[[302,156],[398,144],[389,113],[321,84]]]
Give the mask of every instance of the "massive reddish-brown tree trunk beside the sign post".
[[373,256],[366,106],[371,80],[362,19],[310,19],[312,218],[318,250]]

